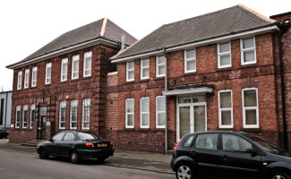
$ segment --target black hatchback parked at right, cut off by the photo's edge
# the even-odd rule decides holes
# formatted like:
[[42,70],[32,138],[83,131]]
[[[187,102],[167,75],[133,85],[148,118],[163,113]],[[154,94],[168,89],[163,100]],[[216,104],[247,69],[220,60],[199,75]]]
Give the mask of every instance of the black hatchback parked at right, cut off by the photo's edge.
[[178,179],[290,179],[291,158],[275,144],[244,132],[199,132],[185,135],[171,161]]

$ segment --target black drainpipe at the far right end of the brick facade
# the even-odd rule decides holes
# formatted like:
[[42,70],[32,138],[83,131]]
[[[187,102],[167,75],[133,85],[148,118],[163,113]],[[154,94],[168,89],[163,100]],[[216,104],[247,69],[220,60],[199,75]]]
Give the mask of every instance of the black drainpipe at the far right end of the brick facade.
[[279,24],[280,32],[278,34],[278,50],[280,62],[280,77],[281,77],[281,98],[282,98],[282,115],[283,115],[283,140],[284,149],[288,150],[288,136],[287,136],[287,122],[286,122],[286,100],[285,100],[285,81],[284,81],[284,62],[283,62],[283,49],[282,37],[287,29],[290,27],[290,20],[285,20],[283,24]]

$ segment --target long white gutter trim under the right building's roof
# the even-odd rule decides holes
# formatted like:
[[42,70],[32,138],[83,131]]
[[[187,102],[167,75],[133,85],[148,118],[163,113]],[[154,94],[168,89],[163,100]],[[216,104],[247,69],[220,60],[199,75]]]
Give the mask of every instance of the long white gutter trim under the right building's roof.
[[[168,52],[173,52],[173,51],[182,50],[182,49],[201,47],[201,46],[205,46],[205,45],[209,45],[209,44],[220,43],[223,41],[230,41],[231,39],[235,39],[235,38],[244,38],[247,36],[255,36],[258,34],[262,34],[262,33],[268,33],[268,32],[273,31],[273,30],[279,31],[278,26],[273,25],[270,27],[265,27],[265,28],[261,28],[261,29],[257,29],[257,30],[248,30],[248,31],[244,31],[244,32],[239,32],[239,33],[236,33],[233,35],[227,35],[224,37],[205,39],[205,40],[201,40],[199,42],[193,42],[193,43],[190,43],[187,45],[180,45],[180,46],[176,46],[176,47],[166,47],[166,52],[168,53]],[[111,63],[121,63],[121,62],[124,62],[127,60],[133,60],[136,58],[149,57],[150,55],[162,55],[162,54],[163,54],[163,50],[156,50],[153,52],[142,53],[139,55],[131,55],[131,56],[121,57],[121,58],[117,58],[117,59],[112,59]]]

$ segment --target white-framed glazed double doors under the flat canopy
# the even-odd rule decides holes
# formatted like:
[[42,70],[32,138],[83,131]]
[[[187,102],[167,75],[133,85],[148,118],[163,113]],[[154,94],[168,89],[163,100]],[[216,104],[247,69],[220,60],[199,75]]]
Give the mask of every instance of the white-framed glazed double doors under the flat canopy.
[[205,95],[177,97],[176,140],[184,134],[207,131]]

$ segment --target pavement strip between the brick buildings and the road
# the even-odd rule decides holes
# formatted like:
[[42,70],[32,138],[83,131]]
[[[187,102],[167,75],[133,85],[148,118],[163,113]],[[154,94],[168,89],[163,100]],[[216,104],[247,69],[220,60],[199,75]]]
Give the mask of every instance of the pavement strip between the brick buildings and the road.
[[[38,155],[35,147],[27,147],[21,146],[21,144],[9,143],[8,140],[0,140],[0,149],[13,150],[30,155]],[[115,155],[107,158],[104,165],[174,174],[170,168],[171,158],[172,155],[170,154],[165,155],[153,152],[116,150]]]

